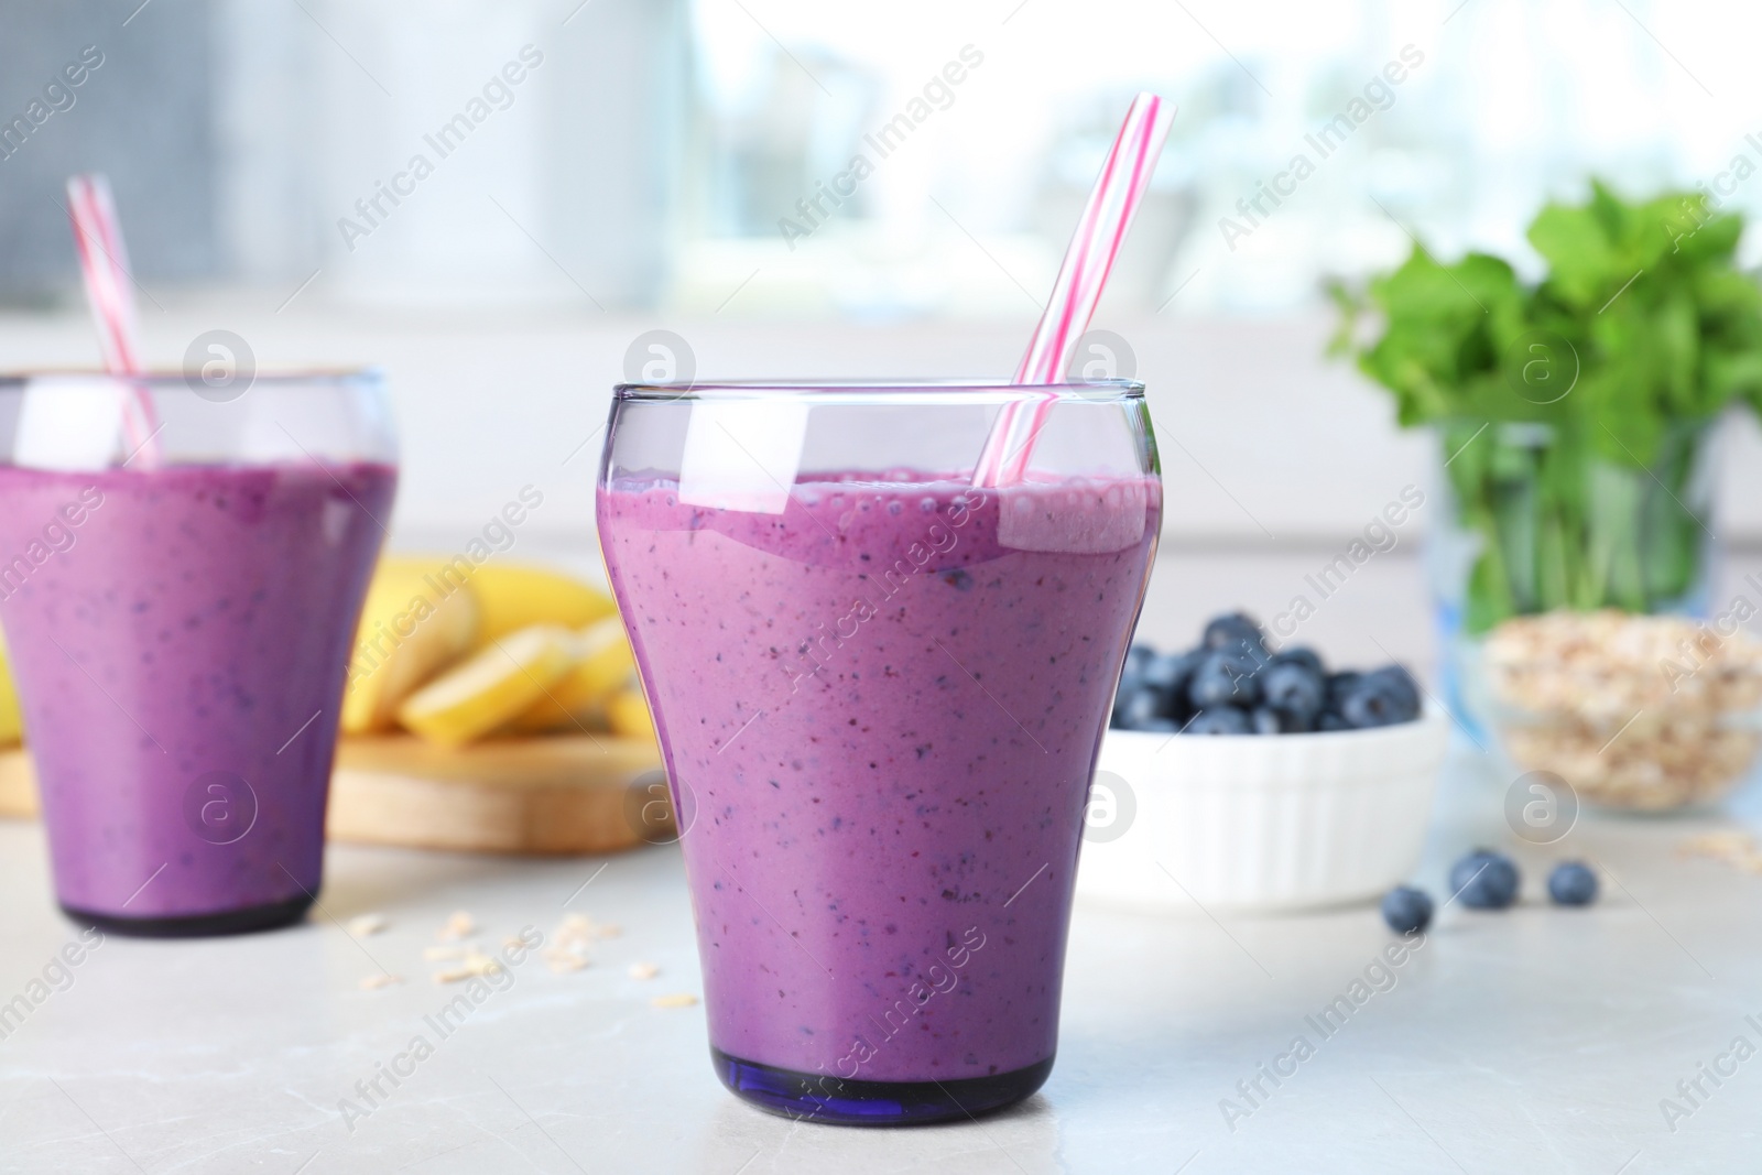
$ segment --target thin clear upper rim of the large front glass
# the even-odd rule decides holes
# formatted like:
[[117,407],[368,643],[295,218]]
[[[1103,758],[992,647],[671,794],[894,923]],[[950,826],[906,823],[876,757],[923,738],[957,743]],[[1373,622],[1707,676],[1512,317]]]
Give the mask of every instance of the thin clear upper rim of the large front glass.
[[624,382],[613,386],[618,403],[671,403],[678,400],[774,400],[805,403],[996,403],[999,400],[1087,400],[1121,403],[1144,400],[1135,379],[1098,379],[1064,384],[1011,384],[1004,379],[715,379],[678,384]]

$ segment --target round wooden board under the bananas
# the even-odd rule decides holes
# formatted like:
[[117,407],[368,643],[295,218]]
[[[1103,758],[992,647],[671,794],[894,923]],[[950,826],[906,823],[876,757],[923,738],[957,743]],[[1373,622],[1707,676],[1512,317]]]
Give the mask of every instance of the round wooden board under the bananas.
[[[671,840],[652,742],[506,738],[449,750],[412,735],[344,738],[331,840],[470,853],[611,853]],[[0,816],[35,816],[30,756],[0,752]]]

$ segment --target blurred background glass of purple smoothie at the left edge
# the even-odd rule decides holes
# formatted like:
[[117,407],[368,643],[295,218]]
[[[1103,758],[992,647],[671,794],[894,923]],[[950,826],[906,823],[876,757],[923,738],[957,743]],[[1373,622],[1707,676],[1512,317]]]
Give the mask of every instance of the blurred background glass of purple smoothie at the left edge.
[[0,377],[0,624],[72,918],[231,934],[314,902],[393,462],[374,372]]

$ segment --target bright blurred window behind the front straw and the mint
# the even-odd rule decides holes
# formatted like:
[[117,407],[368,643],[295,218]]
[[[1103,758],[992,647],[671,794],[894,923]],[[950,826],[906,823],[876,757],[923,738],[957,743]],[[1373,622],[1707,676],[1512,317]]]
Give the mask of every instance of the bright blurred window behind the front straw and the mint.
[[[1589,174],[1644,192],[1762,166],[1741,0],[694,0],[691,25],[680,291],[714,307],[758,273],[749,312],[1033,312],[1144,88],[1181,115],[1110,298],[1147,310],[1304,305],[1410,233],[1528,262],[1528,220]],[[856,157],[855,192],[816,199]]]

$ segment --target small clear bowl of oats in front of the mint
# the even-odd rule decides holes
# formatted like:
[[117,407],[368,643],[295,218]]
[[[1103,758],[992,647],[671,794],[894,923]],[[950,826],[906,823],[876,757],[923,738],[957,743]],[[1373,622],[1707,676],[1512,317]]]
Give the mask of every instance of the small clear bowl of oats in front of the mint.
[[1487,634],[1471,689],[1512,766],[1552,772],[1588,803],[1716,803],[1762,749],[1762,641],[1739,620],[1515,617]]

